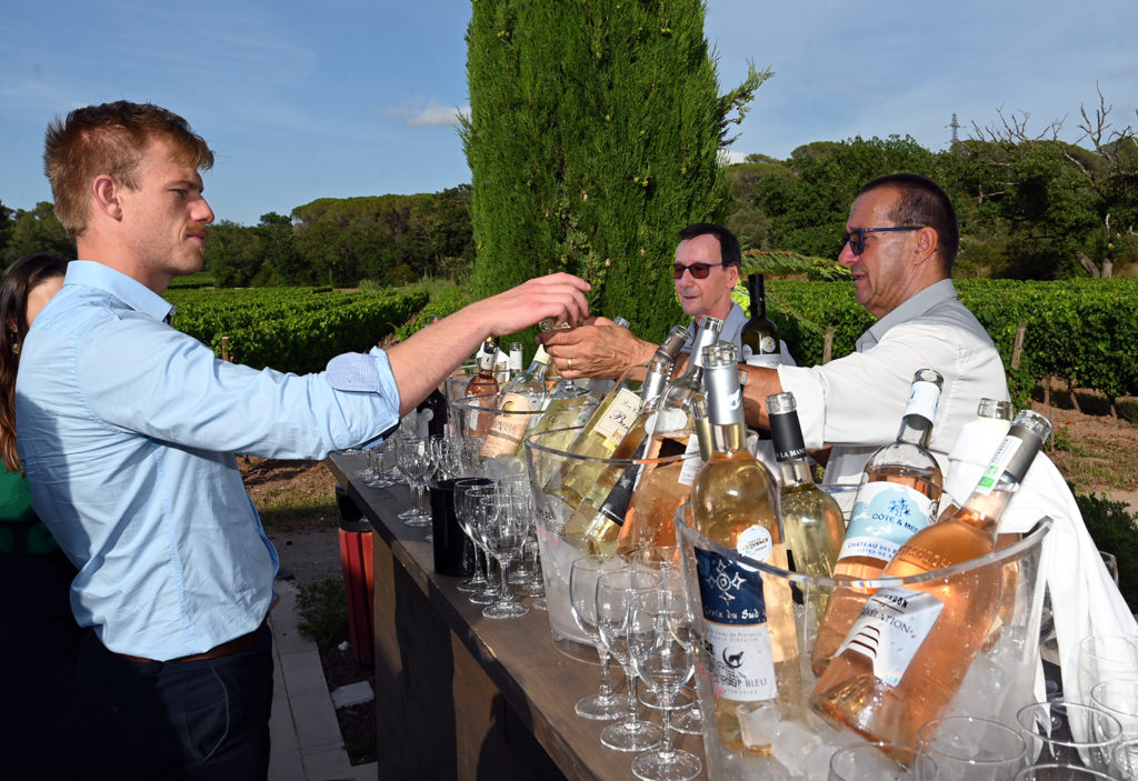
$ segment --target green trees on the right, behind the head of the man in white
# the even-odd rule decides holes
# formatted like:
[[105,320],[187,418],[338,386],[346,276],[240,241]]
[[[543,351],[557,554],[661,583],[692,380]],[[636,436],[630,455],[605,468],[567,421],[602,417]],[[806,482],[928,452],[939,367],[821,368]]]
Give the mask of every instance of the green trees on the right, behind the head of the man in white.
[[1030,134],[1025,115],[1001,115],[941,152],[892,135],[814,142],[786,160],[751,156],[727,171],[727,224],[748,248],[832,258],[858,188],[910,171],[940,183],[957,208],[957,276],[1110,276],[1138,264],[1138,135],[1108,115],[1102,97],[1096,110],[1083,107],[1090,149],[1059,141],[1059,122]]

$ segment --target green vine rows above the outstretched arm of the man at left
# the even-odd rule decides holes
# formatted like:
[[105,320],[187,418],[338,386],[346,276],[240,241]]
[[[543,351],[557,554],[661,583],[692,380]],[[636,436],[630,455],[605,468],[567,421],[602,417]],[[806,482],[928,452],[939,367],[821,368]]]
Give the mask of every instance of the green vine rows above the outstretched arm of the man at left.
[[423,288],[344,292],[328,288],[167,291],[173,325],[237,363],[305,374],[341,352],[362,352],[427,306]]

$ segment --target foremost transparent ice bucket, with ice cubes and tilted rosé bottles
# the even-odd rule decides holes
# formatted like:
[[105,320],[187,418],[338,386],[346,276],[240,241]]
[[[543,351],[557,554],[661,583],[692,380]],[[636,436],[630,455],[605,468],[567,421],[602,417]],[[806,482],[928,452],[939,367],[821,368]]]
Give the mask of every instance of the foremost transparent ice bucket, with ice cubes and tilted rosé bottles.
[[[769,593],[791,593],[801,676],[800,690],[780,691],[778,700],[770,700],[769,705],[754,707],[754,704],[750,704],[744,708],[742,713],[748,718],[744,728],[749,730],[748,746],[740,746],[735,741],[733,748],[727,748],[716,726],[714,689],[717,683],[712,675],[712,664],[707,643],[701,643],[695,678],[703,713],[708,776],[714,780],[825,778],[825,771],[819,771],[824,764],[819,763],[828,761],[828,756],[841,746],[859,742],[865,738],[850,730],[836,730],[810,711],[808,699],[817,682],[810,655],[817,638],[819,617],[813,606],[825,604],[836,585],[849,587],[851,581],[840,583],[830,578],[787,572],[750,559],[692,529],[688,512],[688,506],[682,508],[676,514],[675,523],[693,614],[703,616],[696,576],[696,550],[710,551],[731,565],[737,565],[737,570],[733,572],[741,572],[743,576],[753,573]],[[1039,665],[1039,623],[1044,596],[1039,562],[1042,540],[1050,527],[1052,520],[1044,517],[1022,539],[988,556],[923,575],[853,582],[873,593],[887,587],[905,588],[921,583],[925,587],[935,584],[938,588],[953,588],[954,583],[963,583],[965,579],[1003,579],[998,617],[954,699],[940,716],[981,716],[1004,724],[1015,724],[1016,711],[1036,700],[1033,684]],[[701,552],[700,557],[704,562],[709,558],[718,560],[707,552]],[[696,621],[696,625],[702,629],[704,624]],[[916,724],[912,731],[915,733],[920,726]],[[897,739],[907,732],[908,725],[898,725],[896,736],[880,739],[910,743],[909,740]],[[822,773],[820,776],[817,775],[818,772]]]

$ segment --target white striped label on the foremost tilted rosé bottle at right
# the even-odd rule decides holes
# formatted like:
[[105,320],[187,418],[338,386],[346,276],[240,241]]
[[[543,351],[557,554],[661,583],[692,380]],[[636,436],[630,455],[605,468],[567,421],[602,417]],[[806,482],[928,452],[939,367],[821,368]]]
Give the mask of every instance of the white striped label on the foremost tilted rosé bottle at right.
[[899,585],[879,589],[866,600],[838,654],[860,654],[871,660],[876,678],[896,687],[943,607],[923,591]]

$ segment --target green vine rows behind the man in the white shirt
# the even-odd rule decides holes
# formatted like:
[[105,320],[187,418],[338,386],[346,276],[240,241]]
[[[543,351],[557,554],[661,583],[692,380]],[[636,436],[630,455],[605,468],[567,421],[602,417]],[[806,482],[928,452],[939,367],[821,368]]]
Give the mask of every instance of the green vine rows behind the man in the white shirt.
[[[960,301],[1004,357],[1013,398],[1057,376],[1112,400],[1138,394],[1138,280],[956,280]],[[873,317],[853,301],[852,282],[767,282],[767,311],[803,365],[822,360],[826,326],[833,357],[852,352]],[[1017,372],[1011,371],[1017,323],[1026,323]]]

